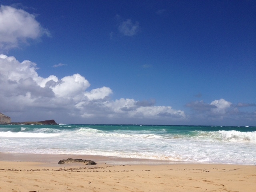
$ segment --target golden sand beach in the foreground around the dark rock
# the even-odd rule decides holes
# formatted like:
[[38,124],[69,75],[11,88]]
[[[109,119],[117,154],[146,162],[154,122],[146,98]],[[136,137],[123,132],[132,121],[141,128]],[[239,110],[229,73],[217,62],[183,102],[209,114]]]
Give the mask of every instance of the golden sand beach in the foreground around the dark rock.
[[[58,164],[66,158],[97,162]],[[254,192],[256,166],[0,153],[0,192]]]

